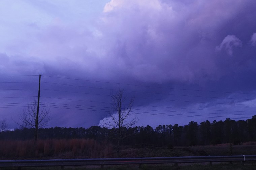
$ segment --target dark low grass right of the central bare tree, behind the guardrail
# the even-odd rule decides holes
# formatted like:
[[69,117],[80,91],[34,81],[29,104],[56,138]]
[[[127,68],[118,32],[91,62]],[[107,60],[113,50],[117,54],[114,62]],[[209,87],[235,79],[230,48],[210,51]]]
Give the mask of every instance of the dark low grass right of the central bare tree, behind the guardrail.
[[122,157],[178,157],[178,156],[219,156],[219,155],[256,155],[255,143],[242,145],[220,144],[192,147],[123,147]]

